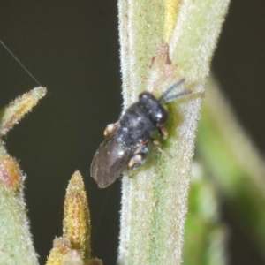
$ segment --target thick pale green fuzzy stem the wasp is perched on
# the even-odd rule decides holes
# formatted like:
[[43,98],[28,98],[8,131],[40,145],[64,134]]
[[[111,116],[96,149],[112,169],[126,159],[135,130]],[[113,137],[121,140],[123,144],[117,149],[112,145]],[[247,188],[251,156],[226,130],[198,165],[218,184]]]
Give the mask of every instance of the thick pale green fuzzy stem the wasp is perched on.
[[[228,0],[118,1],[125,107],[142,90],[161,95],[184,77],[185,89],[193,89],[192,96],[169,105],[170,137],[162,143],[168,155],[154,150],[133,179],[123,178],[119,264],[182,261],[201,95],[228,4]],[[165,19],[171,5],[176,10],[178,6],[173,27]],[[165,37],[169,28],[173,31]]]

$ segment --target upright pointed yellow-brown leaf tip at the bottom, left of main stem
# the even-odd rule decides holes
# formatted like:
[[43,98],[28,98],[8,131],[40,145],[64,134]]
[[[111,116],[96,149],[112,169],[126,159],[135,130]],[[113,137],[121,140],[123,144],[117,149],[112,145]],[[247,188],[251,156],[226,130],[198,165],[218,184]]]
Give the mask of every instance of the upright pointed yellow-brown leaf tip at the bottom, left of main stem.
[[63,237],[54,240],[46,264],[90,264],[90,230],[87,194],[82,176],[76,171],[69,182],[64,200]]

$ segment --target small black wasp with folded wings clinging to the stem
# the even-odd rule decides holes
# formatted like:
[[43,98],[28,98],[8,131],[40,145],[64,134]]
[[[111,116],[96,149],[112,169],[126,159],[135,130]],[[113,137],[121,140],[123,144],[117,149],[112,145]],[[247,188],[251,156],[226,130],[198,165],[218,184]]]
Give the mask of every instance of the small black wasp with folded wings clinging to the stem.
[[105,139],[97,149],[90,168],[90,174],[100,188],[110,186],[124,170],[139,168],[146,162],[148,143],[155,129],[161,137],[167,137],[164,125],[168,120],[168,112],[163,103],[191,93],[185,90],[170,95],[184,81],[179,80],[158,99],[149,92],[141,93],[139,101],[125,110],[117,123],[107,125]]

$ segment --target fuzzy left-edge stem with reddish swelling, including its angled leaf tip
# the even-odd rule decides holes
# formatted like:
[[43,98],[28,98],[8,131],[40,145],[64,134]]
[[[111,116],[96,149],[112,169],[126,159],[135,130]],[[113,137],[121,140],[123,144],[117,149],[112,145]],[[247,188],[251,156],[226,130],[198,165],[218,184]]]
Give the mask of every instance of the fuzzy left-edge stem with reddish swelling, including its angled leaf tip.
[[18,124],[46,94],[45,87],[36,87],[19,96],[1,112],[0,117],[0,264],[38,264],[29,231],[24,201],[24,180],[19,163],[8,155],[3,136]]

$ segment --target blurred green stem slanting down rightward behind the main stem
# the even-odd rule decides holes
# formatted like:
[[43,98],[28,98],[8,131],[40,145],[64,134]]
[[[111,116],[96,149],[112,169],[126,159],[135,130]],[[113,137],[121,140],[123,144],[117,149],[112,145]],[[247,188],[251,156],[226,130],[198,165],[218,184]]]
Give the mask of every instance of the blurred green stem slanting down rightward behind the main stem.
[[208,80],[201,111],[198,155],[216,180],[231,215],[260,246],[265,257],[265,164],[224,101],[216,81]]

